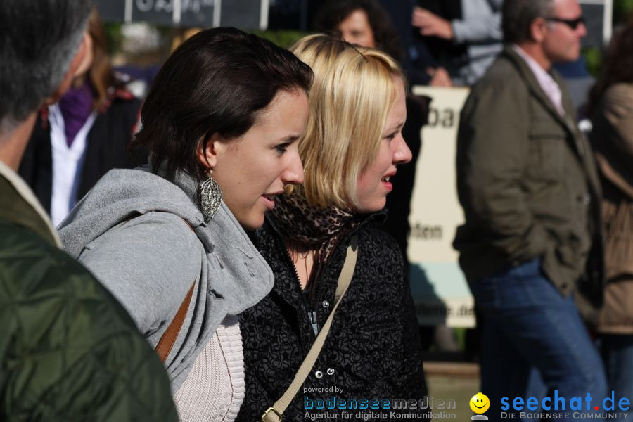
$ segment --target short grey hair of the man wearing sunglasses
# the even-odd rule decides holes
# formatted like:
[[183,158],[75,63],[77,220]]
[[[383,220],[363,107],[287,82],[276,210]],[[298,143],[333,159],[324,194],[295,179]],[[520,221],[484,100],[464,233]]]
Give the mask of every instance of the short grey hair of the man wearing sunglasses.
[[536,18],[546,18],[554,9],[554,0],[505,0],[501,9],[504,41],[517,44],[530,41],[530,25]]

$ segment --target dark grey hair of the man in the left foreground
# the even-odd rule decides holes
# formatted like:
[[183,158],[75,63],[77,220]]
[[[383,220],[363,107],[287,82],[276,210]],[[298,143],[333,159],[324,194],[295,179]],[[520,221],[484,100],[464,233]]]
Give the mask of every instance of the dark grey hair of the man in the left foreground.
[[86,29],[91,0],[2,0],[0,134],[55,92]]

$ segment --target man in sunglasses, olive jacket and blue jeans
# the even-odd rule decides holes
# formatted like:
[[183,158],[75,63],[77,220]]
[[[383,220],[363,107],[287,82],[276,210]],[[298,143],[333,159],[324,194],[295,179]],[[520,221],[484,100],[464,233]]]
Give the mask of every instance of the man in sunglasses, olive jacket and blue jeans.
[[577,0],[505,0],[502,27],[504,51],[461,115],[466,223],[454,246],[484,320],[482,392],[493,404],[539,404],[487,416],[562,411],[575,420],[570,400],[582,397],[584,414],[600,420],[606,379],[584,324],[595,321],[603,297],[601,193],[591,148],[552,70],[579,57],[587,29]]

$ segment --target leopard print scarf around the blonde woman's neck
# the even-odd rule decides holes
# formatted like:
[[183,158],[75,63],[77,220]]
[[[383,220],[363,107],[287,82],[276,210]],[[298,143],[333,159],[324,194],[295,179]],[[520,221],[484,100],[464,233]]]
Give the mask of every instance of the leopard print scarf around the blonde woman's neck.
[[[321,209],[310,205],[301,188],[295,188],[291,195],[277,196],[271,213],[286,241],[316,250],[314,264],[317,268],[326,264],[340,239],[362,222],[362,218],[349,209]],[[312,271],[318,276],[315,272],[319,271]],[[310,279],[314,278],[310,276]]]

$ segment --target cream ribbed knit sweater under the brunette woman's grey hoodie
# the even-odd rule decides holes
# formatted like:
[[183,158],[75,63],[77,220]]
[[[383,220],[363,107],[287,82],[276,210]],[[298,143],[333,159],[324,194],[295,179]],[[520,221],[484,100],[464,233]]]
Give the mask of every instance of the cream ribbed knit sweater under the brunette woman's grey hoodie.
[[237,316],[226,316],[174,396],[182,422],[232,422],[244,399],[244,359]]

